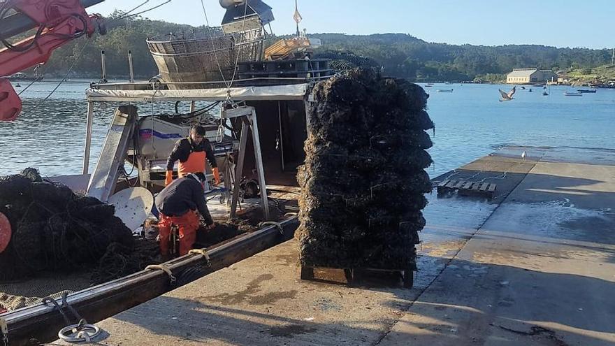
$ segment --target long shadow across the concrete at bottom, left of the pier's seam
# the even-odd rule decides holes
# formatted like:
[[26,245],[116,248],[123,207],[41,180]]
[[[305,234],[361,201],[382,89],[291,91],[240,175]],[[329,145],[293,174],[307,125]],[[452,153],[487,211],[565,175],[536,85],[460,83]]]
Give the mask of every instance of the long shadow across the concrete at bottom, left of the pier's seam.
[[[337,345],[342,336],[351,337],[352,344],[365,343],[366,335],[360,329],[344,324],[319,324],[305,319],[277,316],[239,310],[229,306],[210,305],[203,301],[161,296],[157,307],[143,306],[117,315],[115,319],[142,327],[159,336],[172,336],[177,342],[208,343],[218,341],[230,345]],[[152,317],[144,319],[142,313],[150,310]],[[181,315],[173,315],[181,311]],[[298,312],[298,315],[300,312]],[[309,319],[310,312],[305,316]],[[368,331],[377,334],[377,331]]]

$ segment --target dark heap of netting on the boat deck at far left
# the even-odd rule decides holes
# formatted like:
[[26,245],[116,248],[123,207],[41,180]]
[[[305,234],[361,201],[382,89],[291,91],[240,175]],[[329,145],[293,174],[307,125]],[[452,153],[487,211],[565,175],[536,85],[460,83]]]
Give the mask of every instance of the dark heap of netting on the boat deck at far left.
[[0,212],[12,229],[0,253],[0,281],[40,271],[94,270],[106,265],[101,259],[110,252],[133,250],[132,232],[113,206],[43,181],[32,168],[0,177]]

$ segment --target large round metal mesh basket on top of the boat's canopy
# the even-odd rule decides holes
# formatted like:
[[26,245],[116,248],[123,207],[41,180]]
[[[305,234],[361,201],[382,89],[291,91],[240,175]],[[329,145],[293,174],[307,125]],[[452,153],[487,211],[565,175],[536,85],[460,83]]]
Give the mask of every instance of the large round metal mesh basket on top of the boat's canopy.
[[262,29],[224,34],[220,28],[205,28],[148,38],[147,46],[169,88],[195,89],[220,86],[199,82],[224,85],[236,62],[261,61],[263,41]]

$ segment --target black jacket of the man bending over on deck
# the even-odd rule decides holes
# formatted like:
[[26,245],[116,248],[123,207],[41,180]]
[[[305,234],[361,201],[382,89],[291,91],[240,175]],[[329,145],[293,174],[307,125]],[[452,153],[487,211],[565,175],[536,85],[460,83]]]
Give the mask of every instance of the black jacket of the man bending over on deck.
[[205,224],[213,224],[205,192],[201,182],[194,178],[175,179],[156,196],[156,208],[166,216],[182,216],[190,210],[198,210]]

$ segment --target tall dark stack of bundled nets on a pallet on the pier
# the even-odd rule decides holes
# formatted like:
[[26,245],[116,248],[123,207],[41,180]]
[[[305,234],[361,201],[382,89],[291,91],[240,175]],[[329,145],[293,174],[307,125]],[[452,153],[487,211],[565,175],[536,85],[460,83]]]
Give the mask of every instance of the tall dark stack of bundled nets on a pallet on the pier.
[[299,168],[307,267],[416,270],[433,122],[418,85],[354,69],[320,82]]

